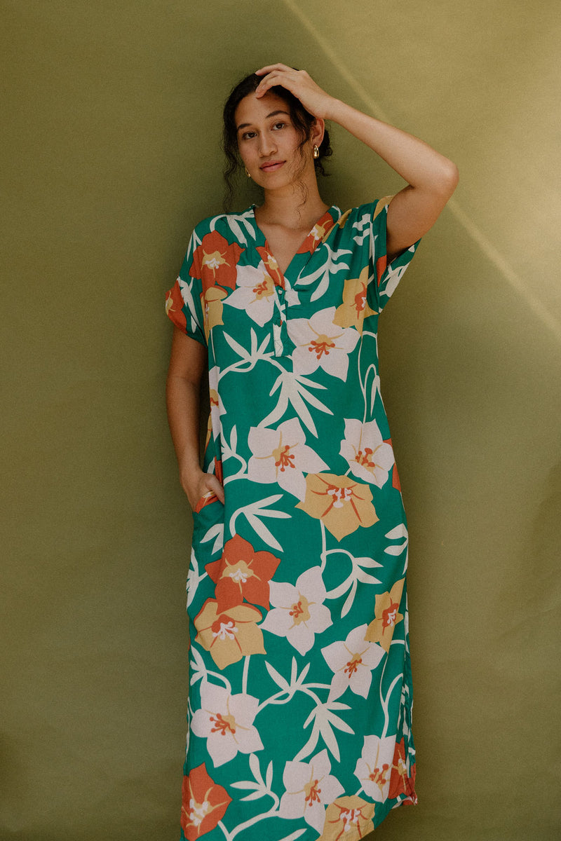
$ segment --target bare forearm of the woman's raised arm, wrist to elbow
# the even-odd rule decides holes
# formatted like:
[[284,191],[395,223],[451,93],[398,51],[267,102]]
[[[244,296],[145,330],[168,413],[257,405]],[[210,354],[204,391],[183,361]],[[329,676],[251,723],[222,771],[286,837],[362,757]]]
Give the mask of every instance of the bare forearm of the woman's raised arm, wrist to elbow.
[[423,140],[363,114],[339,99],[333,100],[325,116],[362,140],[411,187],[431,192],[453,192],[458,182],[456,165]]

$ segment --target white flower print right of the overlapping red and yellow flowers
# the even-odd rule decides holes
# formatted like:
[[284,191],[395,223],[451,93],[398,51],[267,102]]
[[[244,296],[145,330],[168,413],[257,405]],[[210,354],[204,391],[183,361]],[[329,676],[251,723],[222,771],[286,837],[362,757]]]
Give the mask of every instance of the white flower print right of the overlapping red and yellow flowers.
[[323,604],[327,591],[320,567],[306,569],[295,585],[271,581],[269,588],[273,609],[260,627],[286,637],[300,654],[305,654],[314,645],[315,634],[333,624],[329,608]]

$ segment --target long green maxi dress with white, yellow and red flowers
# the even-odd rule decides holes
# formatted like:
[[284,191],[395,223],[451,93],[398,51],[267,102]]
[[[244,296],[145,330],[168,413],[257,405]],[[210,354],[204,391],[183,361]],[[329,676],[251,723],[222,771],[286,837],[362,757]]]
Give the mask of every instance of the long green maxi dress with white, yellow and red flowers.
[[208,347],[182,838],[355,841],[416,802],[407,530],[379,391],[389,199],[284,274],[254,208],[195,228],[167,315]]

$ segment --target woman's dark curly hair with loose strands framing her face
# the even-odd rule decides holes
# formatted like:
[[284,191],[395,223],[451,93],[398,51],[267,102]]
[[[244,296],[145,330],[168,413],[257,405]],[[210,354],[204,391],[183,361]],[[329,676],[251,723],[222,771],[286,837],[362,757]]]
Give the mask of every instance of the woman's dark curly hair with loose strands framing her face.
[[[222,148],[226,156],[224,167],[225,180],[225,209],[230,207],[232,197],[234,195],[234,182],[238,169],[241,167],[241,158],[238,151],[238,139],[236,130],[236,108],[241,103],[241,100],[254,93],[257,90],[257,85],[262,81],[261,76],[256,76],[251,73],[246,76],[241,82],[238,82],[230,91],[230,96],[226,99],[224,106],[224,130],[222,135]],[[306,111],[299,98],[290,93],[285,87],[276,85],[270,88],[270,92],[276,94],[283,99],[288,105],[290,112],[290,119],[292,119],[295,129],[300,135],[299,149],[302,151],[304,145],[310,140],[312,126],[315,123],[315,117]],[[323,159],[332,154],[332,149],[329,140],[329,133],[325,130],[323,140],[320,145],[320,155],[314,158],[315,172],[320,175],[326,175],[323,167]],[[304,185],[302,185],[304,186]]]

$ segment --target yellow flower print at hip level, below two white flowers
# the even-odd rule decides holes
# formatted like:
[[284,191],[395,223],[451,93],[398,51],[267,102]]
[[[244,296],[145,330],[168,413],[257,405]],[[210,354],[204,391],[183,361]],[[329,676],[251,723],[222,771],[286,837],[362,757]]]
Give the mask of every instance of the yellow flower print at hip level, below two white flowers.
[[321,520],[337,540],[378,522],[368,484],[333,473],[308,473],[304,502],[296,508]]

